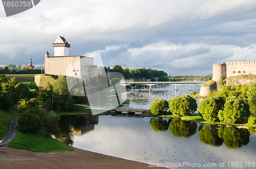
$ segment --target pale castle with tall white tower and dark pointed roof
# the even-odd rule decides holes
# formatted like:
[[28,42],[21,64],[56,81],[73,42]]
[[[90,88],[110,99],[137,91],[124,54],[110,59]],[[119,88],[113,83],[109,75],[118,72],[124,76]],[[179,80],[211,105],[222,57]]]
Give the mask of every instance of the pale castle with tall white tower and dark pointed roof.
[[48,75],[63,75],[87,80],[98,75],[98,66],[93,58],[86,56],[69,56],[70,44],[58,36],[54,43],[54,55],[45,54],[45,73]]

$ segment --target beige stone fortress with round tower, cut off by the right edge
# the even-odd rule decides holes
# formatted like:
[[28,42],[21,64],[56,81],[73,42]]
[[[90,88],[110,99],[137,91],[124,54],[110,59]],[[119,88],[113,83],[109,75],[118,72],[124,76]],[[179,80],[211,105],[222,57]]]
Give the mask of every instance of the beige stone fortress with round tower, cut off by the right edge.
[[256,74],[256,61],[214,64],[212,74],[212,80],[216,82],[221,82],[231,76]]

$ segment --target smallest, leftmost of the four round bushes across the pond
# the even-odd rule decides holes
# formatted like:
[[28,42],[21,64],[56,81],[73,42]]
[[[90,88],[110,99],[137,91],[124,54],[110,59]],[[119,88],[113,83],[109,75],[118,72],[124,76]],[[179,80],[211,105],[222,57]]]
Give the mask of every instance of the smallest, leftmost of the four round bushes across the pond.
[[163,114],[168,109],[168,102],[163,99],[155,99],[150,105],[150,111],[154,115]]

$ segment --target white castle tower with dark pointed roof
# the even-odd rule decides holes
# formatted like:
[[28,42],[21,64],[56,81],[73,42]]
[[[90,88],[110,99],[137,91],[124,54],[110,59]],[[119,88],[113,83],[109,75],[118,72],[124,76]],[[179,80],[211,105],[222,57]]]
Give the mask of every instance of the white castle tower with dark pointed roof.
[[54,47],[53,56],[69,56],[70,44],[64,37],[58,36],[52,46]]

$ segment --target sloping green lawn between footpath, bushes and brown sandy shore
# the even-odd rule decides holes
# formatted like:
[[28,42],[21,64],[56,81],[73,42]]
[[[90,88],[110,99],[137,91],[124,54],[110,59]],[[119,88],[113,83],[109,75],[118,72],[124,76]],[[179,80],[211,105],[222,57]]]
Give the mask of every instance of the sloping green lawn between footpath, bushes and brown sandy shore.
[[47,137],[44,131],[26,134],[16,131],[15,139],[9,142],[8,146],[16,149],[23,149],[42,153],[74,150],[56,139]]

